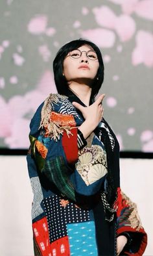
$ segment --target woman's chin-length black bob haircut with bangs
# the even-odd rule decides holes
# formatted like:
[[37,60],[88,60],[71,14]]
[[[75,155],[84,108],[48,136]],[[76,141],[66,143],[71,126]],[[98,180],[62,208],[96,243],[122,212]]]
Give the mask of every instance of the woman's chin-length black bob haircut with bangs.
[[92,88],[91,99],[93,99],[95,96],[97,96],[100,90],[100,87],[104,81],[104,64],[102,60],[102,55],[100,53],[99,47],[93,44],[93,42],[80,38],[78,40],[73,40],[65,44],[64,46],[62,46],[58,51],[58,53],[56,54],[56,57],[54,58],[54,61],[53,61],[54,81],[56,84],[58,94],[67,95],[67,92],[70,89],[63,75],[64,59],[70,51],[78,49],[82,45],[89,45],[97,53],[97,57],[99,60],[99,69],[97,71],[96,78],[94,79],[93,84],[91,85],[91,88]]

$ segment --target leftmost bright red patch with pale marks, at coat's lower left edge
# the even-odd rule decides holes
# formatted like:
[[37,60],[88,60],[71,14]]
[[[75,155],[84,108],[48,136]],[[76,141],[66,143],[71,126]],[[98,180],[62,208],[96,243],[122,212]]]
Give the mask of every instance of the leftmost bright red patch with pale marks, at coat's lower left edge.
[[49,243],[49,231],[47,227],[47,218],[44,217],[37,222],[32,224],[32,229],[34,233],[34,237],[36,238],[36,242],[38,247],[40,248],[41,255],[46,256],[51,253],[50,243]]

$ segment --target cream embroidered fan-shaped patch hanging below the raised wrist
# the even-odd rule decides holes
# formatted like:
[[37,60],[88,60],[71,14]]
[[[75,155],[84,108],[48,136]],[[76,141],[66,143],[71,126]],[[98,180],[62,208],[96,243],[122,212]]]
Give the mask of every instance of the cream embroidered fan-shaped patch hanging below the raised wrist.
[[84,147],[78,151],[78,162],[75,167],[89,186],[108,173],[106,152],[98,145]]

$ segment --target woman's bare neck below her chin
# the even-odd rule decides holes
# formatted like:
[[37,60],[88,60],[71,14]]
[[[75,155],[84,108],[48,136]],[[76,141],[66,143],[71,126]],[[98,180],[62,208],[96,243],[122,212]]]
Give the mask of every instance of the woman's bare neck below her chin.
[[69,84],[69,88],[77,95],[77,97],[86,105],[89,106],[91,97],[91,88],[87,84],[80,84],[75,81]]

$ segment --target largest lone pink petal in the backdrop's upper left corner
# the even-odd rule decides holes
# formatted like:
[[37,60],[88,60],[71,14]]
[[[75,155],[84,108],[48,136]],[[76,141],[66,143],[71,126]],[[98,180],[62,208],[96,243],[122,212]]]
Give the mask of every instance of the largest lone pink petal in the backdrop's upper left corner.
[[41,34],[47,27],[47,16],[37,16],[32,18],[28,24],[28,31],[32,34]]

